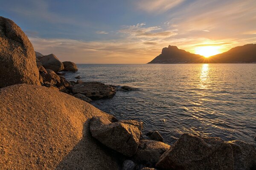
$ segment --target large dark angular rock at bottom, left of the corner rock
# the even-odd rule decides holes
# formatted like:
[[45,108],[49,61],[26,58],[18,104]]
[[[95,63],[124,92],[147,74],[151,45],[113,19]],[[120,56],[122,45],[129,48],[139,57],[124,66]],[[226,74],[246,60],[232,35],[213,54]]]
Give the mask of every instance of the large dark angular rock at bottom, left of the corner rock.
[[163,170],[233,170],[230,144],[219,138],[183,134],[160,156],[156,167]]

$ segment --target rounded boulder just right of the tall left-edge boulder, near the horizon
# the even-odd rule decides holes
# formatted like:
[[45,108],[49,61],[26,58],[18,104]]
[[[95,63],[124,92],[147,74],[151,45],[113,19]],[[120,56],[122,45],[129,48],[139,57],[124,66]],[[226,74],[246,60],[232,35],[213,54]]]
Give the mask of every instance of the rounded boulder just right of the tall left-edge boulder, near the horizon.
[[41,57],[40,62],[43,64],[44,68],[50,69],[55,73],[64,69],[62,62],[54,54]]

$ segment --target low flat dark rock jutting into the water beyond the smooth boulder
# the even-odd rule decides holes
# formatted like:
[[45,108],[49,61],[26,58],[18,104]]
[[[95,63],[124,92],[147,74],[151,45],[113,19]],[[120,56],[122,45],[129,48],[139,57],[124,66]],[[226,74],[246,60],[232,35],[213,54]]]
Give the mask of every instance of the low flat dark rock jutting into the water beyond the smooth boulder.
[[116,88],[101,82],[83,82],[74,85],[73,93],[84,94],[91,99],[111,98],[116,94]]

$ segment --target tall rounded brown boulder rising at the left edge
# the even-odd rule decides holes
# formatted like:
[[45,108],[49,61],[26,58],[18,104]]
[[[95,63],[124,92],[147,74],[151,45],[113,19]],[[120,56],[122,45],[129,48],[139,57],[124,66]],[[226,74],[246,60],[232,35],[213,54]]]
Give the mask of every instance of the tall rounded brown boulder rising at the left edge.
[[40,85],[34,48],[19,26],[0,17],[0,88],[22,83]]

